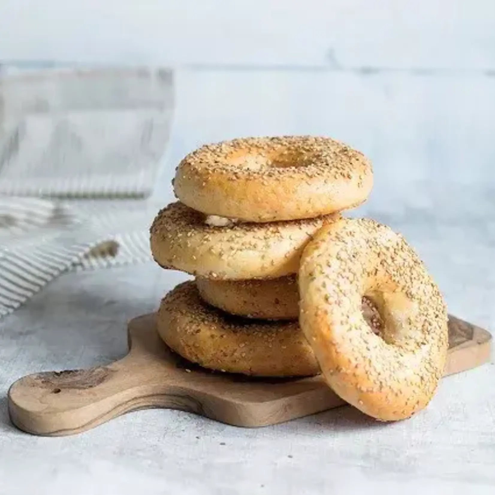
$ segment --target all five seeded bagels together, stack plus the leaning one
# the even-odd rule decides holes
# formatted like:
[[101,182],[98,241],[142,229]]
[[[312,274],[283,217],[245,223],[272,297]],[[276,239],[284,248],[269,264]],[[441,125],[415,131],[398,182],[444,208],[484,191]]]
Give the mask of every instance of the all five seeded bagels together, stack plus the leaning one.
[[163,341],[213,370],[322,373],[380,420],[424,408],[445,367],[446,305],[402,236],[341,214],[372,185],[370,161],[324,137],[236,139],[187,155],[179,200],[150,229],[155,261],[195,277],[161,301]]

